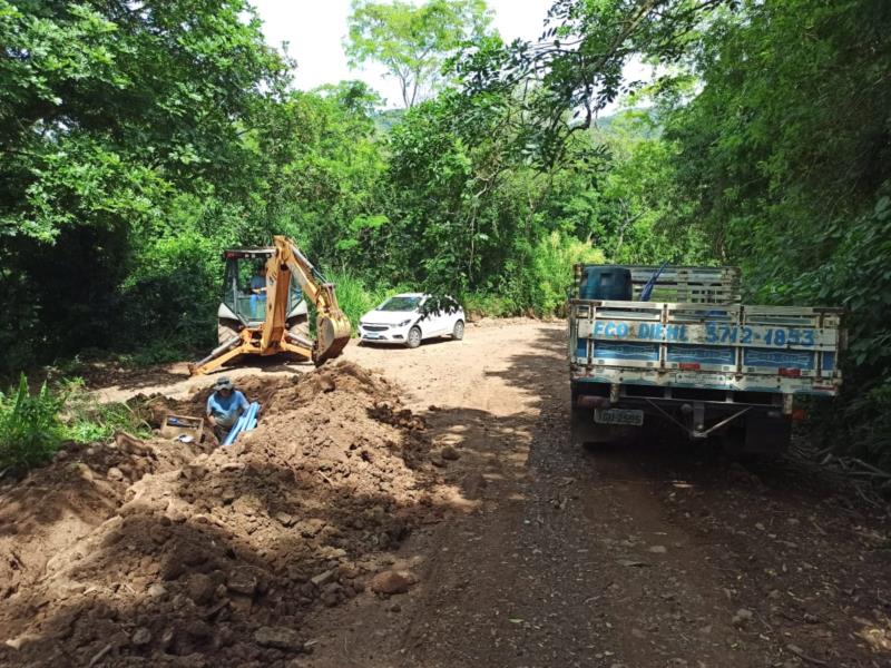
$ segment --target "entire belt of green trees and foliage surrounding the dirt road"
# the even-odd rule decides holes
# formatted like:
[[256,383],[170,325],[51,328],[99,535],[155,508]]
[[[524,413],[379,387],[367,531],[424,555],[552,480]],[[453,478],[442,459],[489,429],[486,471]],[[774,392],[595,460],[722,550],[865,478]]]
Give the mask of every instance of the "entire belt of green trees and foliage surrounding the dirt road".
[[221,250],[273,233],[352,317],[396,288],[554,314],[579,261],[741,264],[753,299],[849,310],[836,414],[889,451],[887,2],[556,0],[506,45],[481,0],[358,1],[347,51],[399,111],[294,90],[246,0],[0,0],[0,374],[209,346]]

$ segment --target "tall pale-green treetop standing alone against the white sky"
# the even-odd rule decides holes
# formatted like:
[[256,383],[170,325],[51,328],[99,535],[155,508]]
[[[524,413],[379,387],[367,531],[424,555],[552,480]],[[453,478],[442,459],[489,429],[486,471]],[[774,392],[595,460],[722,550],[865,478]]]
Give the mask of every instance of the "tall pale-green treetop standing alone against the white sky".
[[439,87],[446,59],[482,37],[490,22],[486,0],[429,0],[420,7],[353,0],[346,55],[354,66],[383,65],[399,81],[408,108]]

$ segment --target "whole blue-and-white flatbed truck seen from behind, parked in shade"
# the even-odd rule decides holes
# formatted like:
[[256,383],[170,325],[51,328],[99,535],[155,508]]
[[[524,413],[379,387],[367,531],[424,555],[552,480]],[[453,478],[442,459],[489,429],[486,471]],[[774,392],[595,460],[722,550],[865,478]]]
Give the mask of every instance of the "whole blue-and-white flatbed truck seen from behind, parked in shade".
[[744,305],[737,267],[606,267],[629,275],[626,298],[590,298],[598,267],[576,266],[567,310],[574,442],[655,428],[776,453],[796,399],[839,392],[841,310]]

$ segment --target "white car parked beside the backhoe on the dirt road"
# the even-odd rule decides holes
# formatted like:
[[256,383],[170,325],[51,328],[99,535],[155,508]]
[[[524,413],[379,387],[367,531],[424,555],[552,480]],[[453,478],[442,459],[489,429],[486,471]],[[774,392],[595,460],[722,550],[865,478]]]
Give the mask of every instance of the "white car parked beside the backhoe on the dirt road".
[[404,293],[386,299],[359,321],[360,343],[402,343],[418,347],[424,338],[464,337],[464,310],[451,297]]

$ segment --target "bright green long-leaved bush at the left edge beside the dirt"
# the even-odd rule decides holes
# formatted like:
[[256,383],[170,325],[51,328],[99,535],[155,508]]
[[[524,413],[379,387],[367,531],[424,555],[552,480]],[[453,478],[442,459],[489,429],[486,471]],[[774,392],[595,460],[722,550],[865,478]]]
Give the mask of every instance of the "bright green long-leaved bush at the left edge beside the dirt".
[[25,374],[18,390],[0,392],[0,470],[30,469],[49,461],[65,438],[60,410],[61,401],[47,384],[32,394]]

